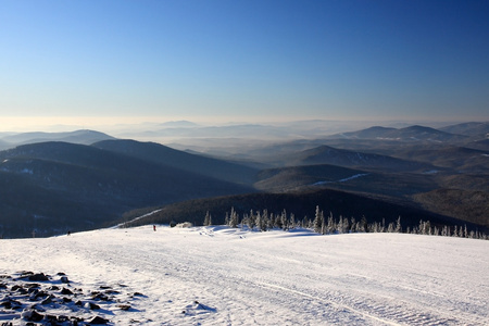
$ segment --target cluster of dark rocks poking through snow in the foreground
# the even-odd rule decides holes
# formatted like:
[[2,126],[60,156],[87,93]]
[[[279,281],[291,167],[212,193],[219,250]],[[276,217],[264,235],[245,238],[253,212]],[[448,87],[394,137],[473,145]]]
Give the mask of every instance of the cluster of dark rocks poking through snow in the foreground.
[[124,285],[76,288],[64,273],[0,275],[0,326],[112,325],[105,316],[130,311],[135,297]]

